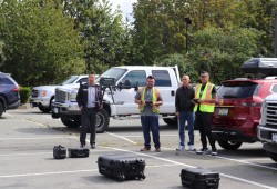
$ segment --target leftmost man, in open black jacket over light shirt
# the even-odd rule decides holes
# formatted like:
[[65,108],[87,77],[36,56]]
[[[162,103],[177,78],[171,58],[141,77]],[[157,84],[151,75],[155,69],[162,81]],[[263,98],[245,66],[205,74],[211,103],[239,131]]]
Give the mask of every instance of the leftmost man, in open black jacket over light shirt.
[[95,84],[95,74],[91,72],[89,74],[89,82],[80,84],[76,94],[76,102],[81,109],[81,133],[80,142],[81,148],[85,146],[86,131],[91,133],[90,145],[91,148],[95,148],[96,136],[96,115],[101,109],[101,89]]

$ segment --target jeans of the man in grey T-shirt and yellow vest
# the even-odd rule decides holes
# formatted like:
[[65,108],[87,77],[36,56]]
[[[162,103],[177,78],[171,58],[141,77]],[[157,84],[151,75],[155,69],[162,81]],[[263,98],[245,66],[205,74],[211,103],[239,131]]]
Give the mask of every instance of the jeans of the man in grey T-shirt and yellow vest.
[[160,148],[160,125],[158,116],[141,116],[141,123],[144,137],[144,147],[151,148],[151,137],[152,132],[153,141],[156,148]]

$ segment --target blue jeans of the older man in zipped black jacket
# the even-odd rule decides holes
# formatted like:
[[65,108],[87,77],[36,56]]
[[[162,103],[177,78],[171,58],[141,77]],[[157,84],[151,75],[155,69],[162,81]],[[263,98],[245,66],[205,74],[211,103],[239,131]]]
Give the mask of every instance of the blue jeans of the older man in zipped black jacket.
[[187,145],[194,145],[194,112],[192,111],[181,111],[179,112],[179,145],[185,146],[185,123],[187,121],[189,142]]

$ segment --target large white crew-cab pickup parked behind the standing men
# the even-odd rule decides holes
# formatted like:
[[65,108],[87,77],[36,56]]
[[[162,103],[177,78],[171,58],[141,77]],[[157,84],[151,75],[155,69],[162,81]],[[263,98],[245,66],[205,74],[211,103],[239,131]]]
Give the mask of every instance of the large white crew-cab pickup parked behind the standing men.
[[[133,118],[138,116],[137,105],[134,97],[140,87],[146,83],[146,77],[155,77],[155,87],[158,88],[163,98],[161,116],[167,125],[176,125],[175,117],[175,92],[181,84],[178,67],[147,67],[147,66],[123,66],[112,67],[101,78],[112,78],[114,84],[103,90],[103,109],[98,113],[96,131],[104,132],[110,125],[110,117]],[[52,101],[52,118],[61,118],[66,127],[80,127],[81,111],[75,97],[79,87],[62,87],[55,89]]]

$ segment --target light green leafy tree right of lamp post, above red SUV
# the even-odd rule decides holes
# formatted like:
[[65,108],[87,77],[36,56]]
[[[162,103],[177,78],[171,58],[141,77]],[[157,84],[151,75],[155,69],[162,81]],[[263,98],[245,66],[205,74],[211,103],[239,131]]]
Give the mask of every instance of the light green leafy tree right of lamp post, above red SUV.
[[240,66],[256,54],[259,32],[249,29],[230,30],[209,28],[193,37],[193,50],[187,54],[198,72],[206,70],[216,84],[242,77]]

